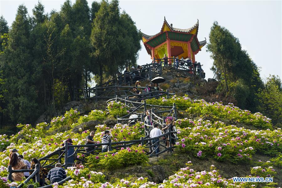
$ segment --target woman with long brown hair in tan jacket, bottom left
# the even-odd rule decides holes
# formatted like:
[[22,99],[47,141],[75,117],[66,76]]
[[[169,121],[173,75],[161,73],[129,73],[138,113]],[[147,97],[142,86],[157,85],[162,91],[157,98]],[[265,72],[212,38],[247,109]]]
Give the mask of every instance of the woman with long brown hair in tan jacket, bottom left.
[[[21,158],[19,158],[16,153],[13,153],[11,155],[9,165],[12,165],[12,170],[27,169],[27,165],[24,164],[24,161]],[[13,178],[14,181],[22,181],[23,177],[24,177],[23,172],[12,173],[12,178]]]

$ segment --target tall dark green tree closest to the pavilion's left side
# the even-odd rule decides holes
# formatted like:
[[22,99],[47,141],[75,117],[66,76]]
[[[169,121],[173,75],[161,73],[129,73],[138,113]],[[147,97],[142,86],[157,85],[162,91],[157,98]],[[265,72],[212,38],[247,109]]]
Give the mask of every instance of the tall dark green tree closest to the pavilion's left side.
[[136,62],[138,57],[141,35],[131,18],[123,14],[121,16],[117,0],[110,3],[103,0],[95,14],[91,44],[99,67],[100,83],[103,70],[107,75],[114,76],[116,71],[125,66],[126,61]]

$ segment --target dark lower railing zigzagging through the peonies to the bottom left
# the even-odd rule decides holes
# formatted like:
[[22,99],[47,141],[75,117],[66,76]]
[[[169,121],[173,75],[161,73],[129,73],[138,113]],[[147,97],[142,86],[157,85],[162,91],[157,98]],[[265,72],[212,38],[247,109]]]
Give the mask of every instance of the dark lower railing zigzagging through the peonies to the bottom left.
[[[170,96],[170,93],[167,92],[160,92],[158,97],[161,97],[162,95],[165,95],[166,97]],[[64,161],[63,163],[63,167],[67,167],[67,166],[71,166],[73,163],[68,163],[68,158],[70,157],[74,157],[75,160],[79,160],[81,162],[87,162],[86,160],[84,160],[83,158],[77,158],[77,154],[81,154],[84,156],[88,156],[90,154],[99,154],[102,150],[102,146],[103,145],[107,145],[109,150],[120,150],[122,147],[123,148],[127,148],[127,147],[131,147],[133,145],[138,145],[141,144],[145,147],[145,152],[148,155],[148,157],[154,157],[154,156],[158,156],[160,154],[163,154],[165,152],[169,152],[172,153],[172,149],[174,148],[174,146],[171,145],[172,140],[177,140],[177,131],[174,127],[174,131],[171,131],[170,127],[168,128],[168,132],[156,137],[156,138],[149,138],[149,133],[152,130],[154,124],[158,124],[160,127],[163,126],[163,124],[165,123],[165,117],[167,116],[173,116],[175,119],[177,119],[177,112],[176,112],[176,105],[175,103],[173,104],[173,106],[159,106],[159,105],[151,105],[151,104],[147,104],[146,100],[144,100],[143,102],[136,102],[133,100],[128,100],[127,98],[123,99],[120,98],[118,96],[116,96],[115,98],[112,98],[110,100],[108,100],[107,102],[110,101],[116,101],[116,102],[124,102],[125,106],[128,108],[129,113],[123,117],[117,117],[117,123],[121,123],[121,124],[127,124],[128,121],[136,121],[136,123],[138,121],[143,122],[144,123],[144,137],[141,137],[138,140],[129,140],[129,141],[121,141],[121,142],[112,142],[111,139],[108,140],[108,143],[104,143],[104,144],[89,144],[89,145],[68,145],[68,142],[65,142],[64,146],[55,150],[54,152],[42,157],[39,159],[39,161],[43,162],[42,163],[42,168],[54,168],[55,167],[55,163],[62,163],[62,161]],[[149,110],[151,112],[151,121],[153,123],[153,125],[148,125],[144,122],[144,114],[145,112]],[[136,114],[138,116],[138,118],[128,118],[130,115],[132,114]],[[174,136],[172,136],[172,134],[174,134]],[[169,141],[169,145],[170,147],[166,147],[165,144],[163,144],[164,142],[166,142],[166,140],[162,140],[161,138],[167,136],[168,137],[168,141]],[[158,142],[155,142],[154,144],[152,144],[152,140],[154,139],[159,139]],[[155,147],[157,146],[157,147]],[[75,149],[74,153],[70,156],[68,156],[67,154],[67,149],[68,147],[73,147]],[[86,152],[84,147],[93,147],[94,149]],[[155,153],[156,150],[159,148],[163,148],[163,150],[159,151],[158,153]],[[29,180],[33,179],[35,177],[35,182],[39,182],[39,164],[35,165],[35,169],[32,170],[12,170],[12,166],[9,165],[8,166],[8,172],[9,172],[9,176],[8,179],[10,181],[13,181],[12,179],[12,173],[17,173],[17,172],[33,172],[25,181],[24,183],[18,185],[17,188],[21,188],[24,184],[26,184]],[[68,176],[67,178],[65,178],[64,180],[58,182],[59,185],[62,185],[65,181],[69,180],[70,177]],[[28,186],[29,188],[31,188],[33,185]],[[44,188],[51,188],[52,185],[45,185]],[[43,188],[43,187],[42,187]]]

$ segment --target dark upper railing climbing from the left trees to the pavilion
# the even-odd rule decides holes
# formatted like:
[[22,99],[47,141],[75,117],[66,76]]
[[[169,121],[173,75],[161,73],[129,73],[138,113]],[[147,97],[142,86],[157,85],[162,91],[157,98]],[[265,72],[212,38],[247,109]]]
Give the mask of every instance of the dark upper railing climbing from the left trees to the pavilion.
[[[154,58],[150,64],[142,65],[143,69],[124,72],[123,74],[118,75],[115,79],[107,81],[101,85],[96,85],[92,88],[76,88],[76,86],[74,86],[73,100],[78,100],[79,97],[83,96],[85,99],[89,98],[97,101],[99,99],[115,97],[115,95],[121,96],[121,92],[123,92],[125,96],[128,96],[128,92],[130,93],[131,88],[129,87],[130,84],[134,84],[136,81],[150,81],[153,73],[157,76],[161,76],[162,67],[164,66],[173,66],[179,70],[187,71],[191,75],[198,75],[199,77],[203,76],[202,69],[199,68],[202,66],[200,62],[188,63],[187,60],[178,59],[179,63],[177,66],[175,60],[175,57],[168,58],[168,64],[165,65],[164,59]],[[128,85],[128,87],[124,85]]]

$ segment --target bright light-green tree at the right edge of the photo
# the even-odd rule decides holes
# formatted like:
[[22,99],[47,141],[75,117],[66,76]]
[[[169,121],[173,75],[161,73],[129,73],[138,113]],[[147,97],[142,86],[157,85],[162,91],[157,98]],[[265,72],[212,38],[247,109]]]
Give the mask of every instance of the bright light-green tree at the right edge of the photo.
[[265,88],[257,94],[259,98],[259,110],[264,112],[274,126],[282,127],[282,87],[280,80],[269,76]]

